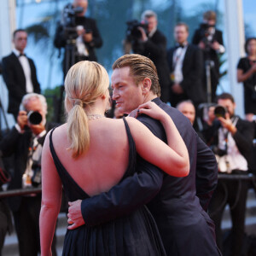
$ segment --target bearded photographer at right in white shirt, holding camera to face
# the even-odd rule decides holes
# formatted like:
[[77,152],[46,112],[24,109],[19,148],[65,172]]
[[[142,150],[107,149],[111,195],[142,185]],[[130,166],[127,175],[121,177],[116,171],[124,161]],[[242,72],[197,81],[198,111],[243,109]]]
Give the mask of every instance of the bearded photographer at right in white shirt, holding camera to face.
[[[218,106],[214,108],[216,119],[203,131],[218,160],[219,175],[229,174],[230,177],[234,174],[247,175],[253,149],[253,124],[235,115],[235,108],[236,103],[229,93],[218,96]],[[219,178],[208,208],[216,225],[217,244],[221,249],[221,219],[225,206],[230,205],[232,230],[229,249],[233,256],[241,253],[248,184],[247,179]]]

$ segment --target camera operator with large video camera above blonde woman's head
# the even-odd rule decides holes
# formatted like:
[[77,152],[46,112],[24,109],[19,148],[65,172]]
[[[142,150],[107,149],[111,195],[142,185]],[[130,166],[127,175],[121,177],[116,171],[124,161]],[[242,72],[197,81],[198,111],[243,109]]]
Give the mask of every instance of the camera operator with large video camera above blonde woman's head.
[[97,61],[95,48],[102,47],[96,20],[85,17],[87,0],[74,0],[63,9],[62,22],[55,32],[55,47],[65,47],[64,76],[79,61]]

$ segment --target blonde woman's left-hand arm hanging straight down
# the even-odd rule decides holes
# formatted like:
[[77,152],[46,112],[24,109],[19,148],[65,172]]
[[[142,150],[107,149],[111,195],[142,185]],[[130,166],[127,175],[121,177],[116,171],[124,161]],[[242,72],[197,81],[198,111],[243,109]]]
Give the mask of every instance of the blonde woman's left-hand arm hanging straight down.
[[42,256],[51,256],[51,243],[61,208],[61,188],[61,179],[49,151],[47,135],[42,153],[42,206],[39,218]]

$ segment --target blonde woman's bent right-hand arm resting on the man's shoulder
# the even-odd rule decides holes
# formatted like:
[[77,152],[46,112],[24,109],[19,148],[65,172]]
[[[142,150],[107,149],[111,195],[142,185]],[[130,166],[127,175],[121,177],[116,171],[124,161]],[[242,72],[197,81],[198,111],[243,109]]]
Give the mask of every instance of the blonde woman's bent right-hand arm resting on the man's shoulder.
[[187,176],[189,174],[189,153],[171,117],[154,102],[147,102],[139,106],[138,109],[139,113],[145,113],[160,120],[166,130],[168,145],[155,137],[137,119],[127,118],[136,143],[137,153],[169,175]]

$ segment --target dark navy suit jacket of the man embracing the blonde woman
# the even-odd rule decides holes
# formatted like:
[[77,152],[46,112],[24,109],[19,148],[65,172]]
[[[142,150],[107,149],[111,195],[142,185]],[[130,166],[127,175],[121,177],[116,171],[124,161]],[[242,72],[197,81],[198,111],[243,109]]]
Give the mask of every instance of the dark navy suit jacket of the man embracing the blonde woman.
[[[82,201],[85,224],[100,224],[129,214],[151,200],[148,208],[158,225],[167,255],[218,255],[214,224],[196,196],[201,197],[201,204],[207,208],[217,185],[215,156],[197,136],[189,119],[159,98],[154,102],[170,114],[186,143],[190,160],[189,176],[169,176],[139,159],[137,172],[132,177],[126,177],[108,193]],[[166,133],[159,121],[145,115],[139,120],[166,142]],[[184,241],[187,241],[185,245]]]

